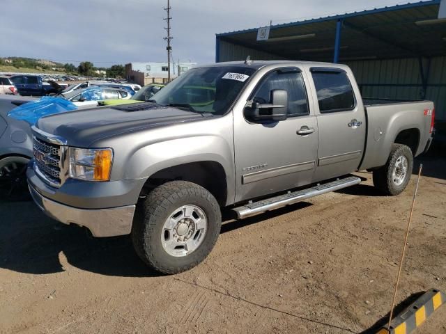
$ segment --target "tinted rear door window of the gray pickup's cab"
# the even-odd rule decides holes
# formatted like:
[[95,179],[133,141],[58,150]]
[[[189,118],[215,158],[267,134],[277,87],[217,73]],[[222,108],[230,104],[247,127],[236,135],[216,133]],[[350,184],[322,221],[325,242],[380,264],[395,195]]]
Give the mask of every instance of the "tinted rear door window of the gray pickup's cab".
[[321,113],[355,108],[355,95],[346,72],[313,72],[312,76]]

